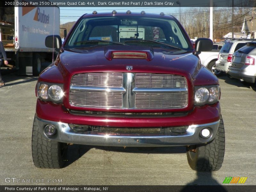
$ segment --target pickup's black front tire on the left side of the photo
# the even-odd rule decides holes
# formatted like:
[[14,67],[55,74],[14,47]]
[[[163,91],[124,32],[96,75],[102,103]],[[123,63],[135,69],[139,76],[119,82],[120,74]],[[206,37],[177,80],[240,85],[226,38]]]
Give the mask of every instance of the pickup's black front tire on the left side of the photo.
[[48,169],[62,168],[66,152],[67,143],[52,141],[41,135],[35,116],[32,131],[32,157],[35,166]]

